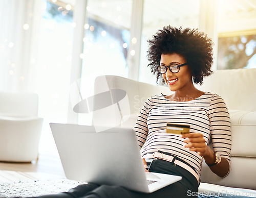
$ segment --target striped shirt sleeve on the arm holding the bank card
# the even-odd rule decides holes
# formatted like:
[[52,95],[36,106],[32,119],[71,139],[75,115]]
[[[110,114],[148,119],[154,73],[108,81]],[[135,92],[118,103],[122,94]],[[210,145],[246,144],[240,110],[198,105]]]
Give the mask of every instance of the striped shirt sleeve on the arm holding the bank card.
[[209,120],[212,147],[222,158],[226,158],[228,160],[230,171],[230,116],[224,100],[219,95],[212,97],[209,107]]

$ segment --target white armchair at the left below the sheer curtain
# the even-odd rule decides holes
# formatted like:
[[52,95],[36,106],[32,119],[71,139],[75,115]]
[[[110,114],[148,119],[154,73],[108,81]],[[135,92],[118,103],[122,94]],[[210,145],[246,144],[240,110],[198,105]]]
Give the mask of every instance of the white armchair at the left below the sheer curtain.
[[36,93],[0,92],[0,161],[37,159],[43,121],[37,113]]

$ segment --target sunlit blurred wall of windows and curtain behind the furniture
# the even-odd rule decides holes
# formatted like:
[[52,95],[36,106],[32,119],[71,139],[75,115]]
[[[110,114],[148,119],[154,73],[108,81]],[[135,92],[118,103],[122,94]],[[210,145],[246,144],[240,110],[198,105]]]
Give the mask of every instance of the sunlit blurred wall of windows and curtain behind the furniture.
[[0,91],[38,93],[39,153],[55,149],[49,122],[91,124],[71,108],[78,79],[156,84],[146,41],[163,26],[211,37],[215,70],[256,68],[256,0],[0,0],[0,9]]

